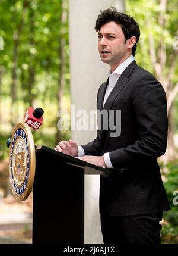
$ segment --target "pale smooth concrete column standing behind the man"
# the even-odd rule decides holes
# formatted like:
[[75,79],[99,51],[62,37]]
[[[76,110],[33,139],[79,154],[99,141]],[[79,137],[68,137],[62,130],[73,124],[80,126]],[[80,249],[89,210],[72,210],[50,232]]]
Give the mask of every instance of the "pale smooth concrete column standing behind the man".
[[[125,10],[123,0],[69,0],[69,40],[71,70],[71,104],[77,110],[96,109],[97,90],[107,79],[109,65],[98,54],[94,30],[100,10],[116,7]],[[89,126],[89,123],[88,123]],[[78,145],[96,138],[96,130],[74,130]],[[85,176],[85,243],[103,243],[98,210],[99,176]]]

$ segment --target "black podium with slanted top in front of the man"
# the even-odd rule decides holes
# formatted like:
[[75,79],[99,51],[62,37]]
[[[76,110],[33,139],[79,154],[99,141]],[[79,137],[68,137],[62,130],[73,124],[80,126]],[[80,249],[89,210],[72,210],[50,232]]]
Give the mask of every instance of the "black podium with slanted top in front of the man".
[[84,176],[109,170],[46,146],[36,148],[33,243],[84,243]]

